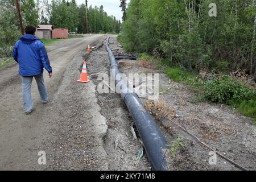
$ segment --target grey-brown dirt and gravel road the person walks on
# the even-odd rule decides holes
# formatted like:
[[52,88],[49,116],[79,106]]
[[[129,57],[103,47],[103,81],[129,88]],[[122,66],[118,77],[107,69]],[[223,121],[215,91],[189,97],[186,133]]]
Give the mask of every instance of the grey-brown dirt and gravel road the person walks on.
[[[108,125],[100,113],[96,85],[93,81],[88,84],[76,81],[80,78],[86,47],[90,44],[100,48],[104,39],[104,35],[92,35],[47,46],[53,68],[52,78],[44,71],[49,102],[47,105],[41,103],[34,80],[35,109],[30,115],[24,114],[22,107],[18,64],[0,71],[0,170],[102,170],[109,169],[114,163],[115,159],[108,158],[105,151]],[[105,48],[98,51],[106,62],[105,71],[109,70]],[[101,60],[97,61],[102,64]],[[139,145],[138,149],[141,147],[139,142],[136,145]],[[46,152],[46,165],[39,165],[39,151]],[[142,167],[135,166],[136,152],[133,151],[131,156],[120,156],[125,163],[130,162],[124,165],[126,169],[150,169],[146,158]],[[110,169],[125,169],[121,163]]]

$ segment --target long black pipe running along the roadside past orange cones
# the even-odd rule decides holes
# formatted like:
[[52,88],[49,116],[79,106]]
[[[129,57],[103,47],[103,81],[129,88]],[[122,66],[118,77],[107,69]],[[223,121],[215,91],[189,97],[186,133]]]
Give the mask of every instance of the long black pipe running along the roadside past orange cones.
[[[163,138],[158,126],[156,125],[154,119],[148,113],[148,111],[143,106],[141,100],[134,92],[131,92],[126,79],[120,79],[116,77],[119,72],[118,65],[115,62],[114,55],[109,48],[109,36],[106,39],[106,50],[109,52],[109,59],[111,62],[111,69],[115,74],[115,85],[121,84],[122,88],[118,89],[121,93],[121,98],[125,102],[127,108],[129,109],[139,135],[142,139],[143,146],[146,150],[148,160],[151,164],[152,170],[154,171],[166,171],[167,163],[164,159],[164,154],[167,149],[167,143]],[[119,83],[121,82],[121,83]]]

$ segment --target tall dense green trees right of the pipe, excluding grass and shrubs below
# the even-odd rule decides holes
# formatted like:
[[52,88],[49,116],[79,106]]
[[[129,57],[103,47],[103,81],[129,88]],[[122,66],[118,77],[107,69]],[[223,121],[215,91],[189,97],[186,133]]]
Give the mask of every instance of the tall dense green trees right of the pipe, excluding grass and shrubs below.
[[254,0],[131,0],[125,13],[119,41],[128,51],[191,71],[256,73]]

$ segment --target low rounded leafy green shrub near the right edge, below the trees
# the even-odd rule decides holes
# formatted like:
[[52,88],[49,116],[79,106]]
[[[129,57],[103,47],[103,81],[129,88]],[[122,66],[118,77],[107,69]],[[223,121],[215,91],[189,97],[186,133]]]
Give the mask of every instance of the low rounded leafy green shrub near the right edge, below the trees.
[[205,82],[204,98],[208,101],[237,106],[248,98],[250,89],[241,81],[223,76]]

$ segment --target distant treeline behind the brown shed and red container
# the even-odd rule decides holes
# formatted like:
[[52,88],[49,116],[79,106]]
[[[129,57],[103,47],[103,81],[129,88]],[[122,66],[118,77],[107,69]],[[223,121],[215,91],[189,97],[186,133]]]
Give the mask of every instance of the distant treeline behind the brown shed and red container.
[[[30,0],[32,1],[32,0]],[[86,5],[77,6],[76,1],[53,0],[51,4],[43,0],[45,10],[41,12],[40,23],[52,24],[55,27],[65,27],[69,31],[85,34],[88,32],[114,32],[119,33],[121,22],[114,16],[109,16],[104,7],[87,8],[88,14],[88,31],[86,30]],[[47,15],[48,19],[46,19]]]

